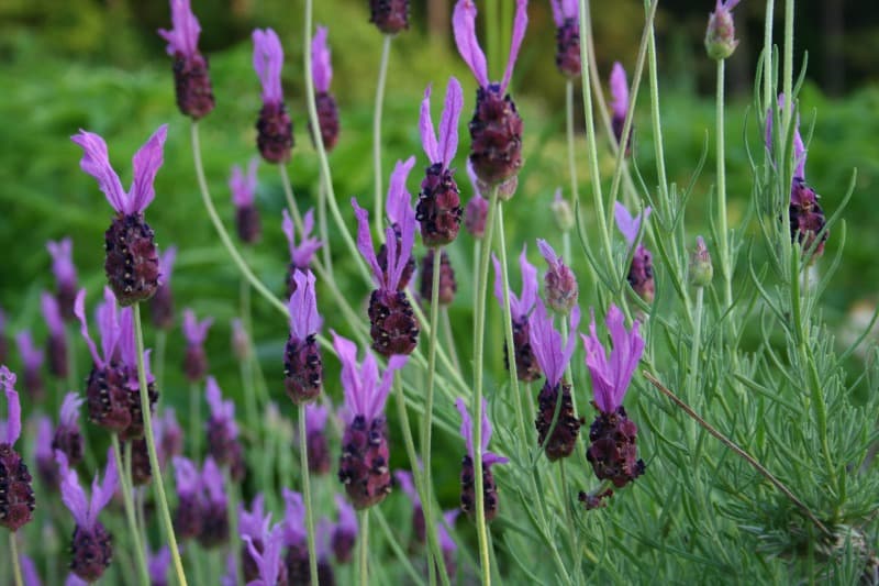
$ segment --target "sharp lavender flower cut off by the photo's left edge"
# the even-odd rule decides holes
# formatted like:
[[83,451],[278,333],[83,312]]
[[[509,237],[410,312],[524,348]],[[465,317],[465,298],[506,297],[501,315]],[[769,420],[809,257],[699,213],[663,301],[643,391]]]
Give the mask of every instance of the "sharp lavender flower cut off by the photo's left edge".
[[0,526],[14,532],[33,518],[36,499],[31,473],[14,447],[21,435],[21,403],[15,375],[5,366],[0,366],[0,386],[7,396],[5,433],[0,438]]

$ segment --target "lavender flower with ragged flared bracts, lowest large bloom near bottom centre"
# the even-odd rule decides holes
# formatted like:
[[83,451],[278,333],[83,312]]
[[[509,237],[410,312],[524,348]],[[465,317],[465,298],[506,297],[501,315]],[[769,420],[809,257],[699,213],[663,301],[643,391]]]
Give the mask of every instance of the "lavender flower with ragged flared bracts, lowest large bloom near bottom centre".
[[333,332],[333,347],[342,362],[342,387],[345,394],[345,434],[338,479],[356,509],[381,502],[391,490],[388,430],[385,401],[391,389],[393,373],[408,357],[393,355],[379,378],[378,363],[367,353],[357,363],[357,346]]

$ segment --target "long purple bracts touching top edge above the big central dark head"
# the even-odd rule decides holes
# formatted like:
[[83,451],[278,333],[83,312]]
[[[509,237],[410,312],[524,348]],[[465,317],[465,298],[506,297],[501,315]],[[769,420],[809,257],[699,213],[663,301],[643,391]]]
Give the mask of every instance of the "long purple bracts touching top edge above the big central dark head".
[[[507,93],[510,78],[513,75],[513,66],[519,56],[519,48],[525,37],[525,29],[528,24],[527,7],[527,0],[516,0],[515,2],[515,20],[510,43],[510,56],[507,59],[507,69],[499,87],[501,95]],[[455,33],[455,44],[458,46],[458,53],[470,67],[477,82],[482,88],[488,88],[490,85],[488,65],[486,64],[486,54],[482,53],[479,41],[476,38],[476,3],[472,0],[458,0],[452,14],[452,27]]]

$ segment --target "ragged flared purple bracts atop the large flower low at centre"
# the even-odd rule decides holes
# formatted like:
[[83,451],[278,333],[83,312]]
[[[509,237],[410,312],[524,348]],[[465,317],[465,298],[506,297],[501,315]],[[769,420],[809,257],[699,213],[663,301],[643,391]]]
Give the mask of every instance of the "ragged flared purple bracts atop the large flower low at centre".
[[361,363],[357,363],[357,345],[333,332],[333,347],[342,362],[342,388],[345,396],[345,423],[351,424],[357,416],[367,421],[380,417],[385,401],[391,390],[393,374],[405,365],[408,357],[391,356],[388,367],[379,376],[376,357],[367,352]]

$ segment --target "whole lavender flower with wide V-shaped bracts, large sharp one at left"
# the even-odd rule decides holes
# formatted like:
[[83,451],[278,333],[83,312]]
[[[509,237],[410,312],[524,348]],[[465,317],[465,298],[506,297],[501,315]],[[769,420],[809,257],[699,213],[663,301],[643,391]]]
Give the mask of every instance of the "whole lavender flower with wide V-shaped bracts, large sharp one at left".
[[120,305],[130,306],[153,297],[158,287],[159,267],[153,229],[144,221],[144,210],[153,201],[153,181],[163,163],[168,133],[163,124],[134,155],[134,180],[126,194],[110,166],[103,139],[84,130],[71,140],[85,152],[79,166],[98,180],[116,217],[104,233],[104,272]]

